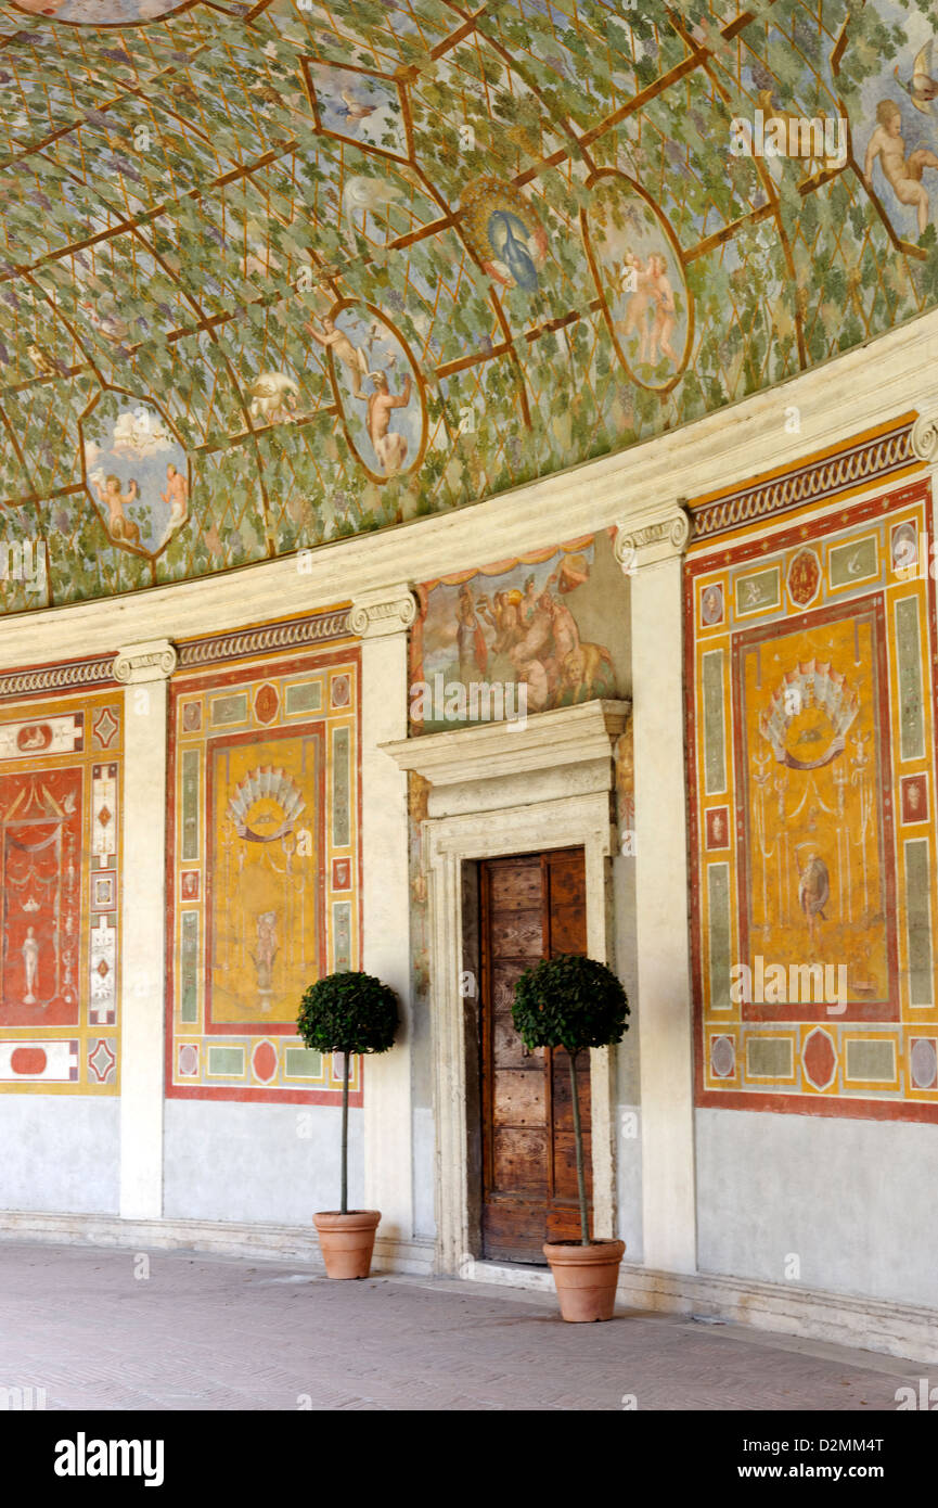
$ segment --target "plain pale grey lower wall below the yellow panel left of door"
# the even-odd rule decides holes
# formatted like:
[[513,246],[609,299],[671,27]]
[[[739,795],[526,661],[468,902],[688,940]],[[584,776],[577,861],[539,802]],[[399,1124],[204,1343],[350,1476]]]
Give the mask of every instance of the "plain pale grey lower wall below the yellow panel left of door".
[[[333,1105],[169,1099],[169,1220],[309,1226],[339,1208],[342,1116]],[[362,1206],[362,1111],[348,1111],[348,1208]]]

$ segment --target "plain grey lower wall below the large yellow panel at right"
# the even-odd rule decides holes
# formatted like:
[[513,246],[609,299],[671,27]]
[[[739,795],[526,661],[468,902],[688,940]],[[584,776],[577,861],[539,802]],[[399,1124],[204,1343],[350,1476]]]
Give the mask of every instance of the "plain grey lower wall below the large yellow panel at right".
[[938,1304],[933,1126],[698,1110],[697,1172],[700,1271]]

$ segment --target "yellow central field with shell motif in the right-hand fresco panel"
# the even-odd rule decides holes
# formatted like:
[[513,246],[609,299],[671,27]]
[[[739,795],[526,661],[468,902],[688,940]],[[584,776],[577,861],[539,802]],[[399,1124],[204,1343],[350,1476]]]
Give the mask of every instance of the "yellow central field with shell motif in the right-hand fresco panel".
[[768,692],[759,691],[768,644],[749,647],[742,671],[757,728],[748,737],[749,950],[843,962],[855,1001],[888,997],[875,636],[875,620],[851,617],[774,639],[772,661],[789,668]]

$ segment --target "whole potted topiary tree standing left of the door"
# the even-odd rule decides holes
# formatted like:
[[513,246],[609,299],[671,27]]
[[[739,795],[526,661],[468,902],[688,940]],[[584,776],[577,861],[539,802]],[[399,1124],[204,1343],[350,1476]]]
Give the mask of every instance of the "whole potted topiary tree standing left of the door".
[[353,1054],[386,1053],[398,1024],[397,995],[372,974],[326,974],[303,995],[297,1030],[306,1047],[342,1053],[342,1200],[312,1220],[330,1277],[368,1277],[380,1209],[348,1208],[348,1071]]

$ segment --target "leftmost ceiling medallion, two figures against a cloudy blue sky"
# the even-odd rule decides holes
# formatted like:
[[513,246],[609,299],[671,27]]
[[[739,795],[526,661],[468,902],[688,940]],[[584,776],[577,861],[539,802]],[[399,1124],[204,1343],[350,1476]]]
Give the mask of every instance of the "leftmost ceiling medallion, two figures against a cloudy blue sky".
[[84,486],[115,544],[155,555],[189,519],[189,457],[154,403],[103,392],[80,424]]

